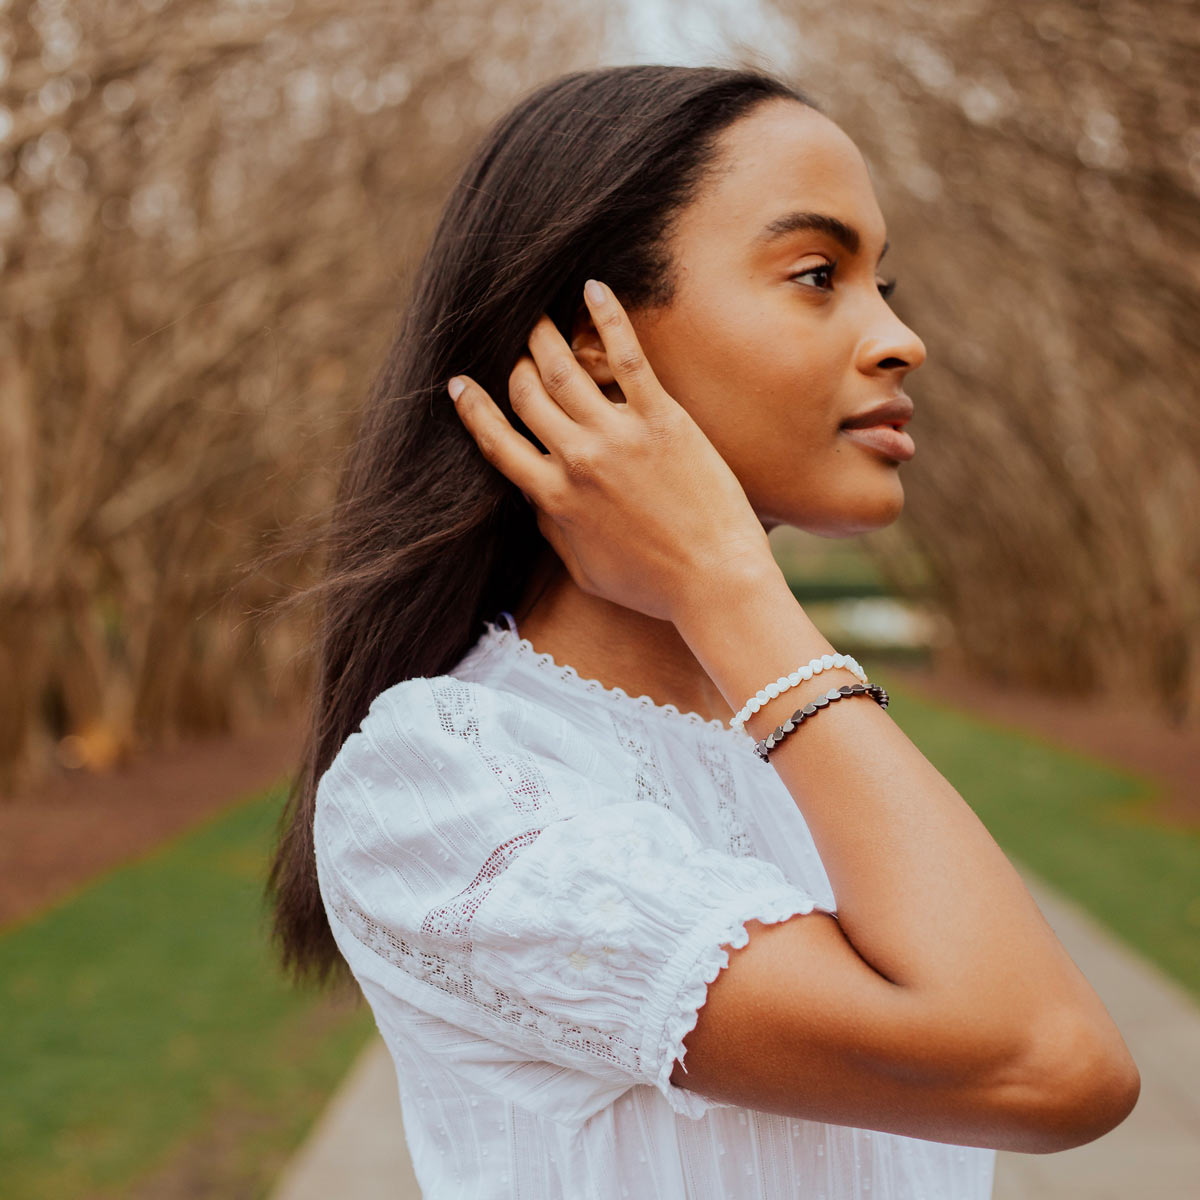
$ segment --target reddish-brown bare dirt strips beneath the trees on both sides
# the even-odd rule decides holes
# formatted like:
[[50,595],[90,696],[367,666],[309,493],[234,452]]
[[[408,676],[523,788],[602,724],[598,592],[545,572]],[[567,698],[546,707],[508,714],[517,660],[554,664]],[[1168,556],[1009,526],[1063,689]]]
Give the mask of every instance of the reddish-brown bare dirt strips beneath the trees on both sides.
[[[1200,828],[1200,730],[1172,730],[1140,707],[1060,701],[944,671],[889,672],[929,700],[1162,780],[1158,815]],[[294,769],[299,749],[299,724],[281,722],[160,750],[110,774],[59,773],[0,802],[0,928],[274,784]]]

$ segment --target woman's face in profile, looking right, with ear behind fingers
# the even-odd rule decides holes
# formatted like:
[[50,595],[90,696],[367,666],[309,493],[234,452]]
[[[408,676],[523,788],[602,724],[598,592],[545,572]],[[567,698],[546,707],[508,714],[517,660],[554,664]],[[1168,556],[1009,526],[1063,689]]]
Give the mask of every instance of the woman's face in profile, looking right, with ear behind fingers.
[[[791,100],[757,104],[718,148],[716,174],[672,228],[671,304],[630,312],[650,366],[768,530],[844,538],[889,524],[901,461],[841,424],[902,396],[925,347],[884,295],[887,232],[863,156]],[[793,214],[836,218],[851,244]],[[619,401],[586,308],[571,344]]]

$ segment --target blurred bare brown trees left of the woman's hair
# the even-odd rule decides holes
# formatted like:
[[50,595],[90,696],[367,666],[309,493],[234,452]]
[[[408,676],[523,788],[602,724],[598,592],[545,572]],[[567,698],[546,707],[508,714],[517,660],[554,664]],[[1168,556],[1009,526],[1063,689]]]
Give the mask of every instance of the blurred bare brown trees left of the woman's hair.
[[596,40],[433,10],[0,5],[0,785],[302,695],[253,614],[312,563],[247,564],[328,505],[470,143]]

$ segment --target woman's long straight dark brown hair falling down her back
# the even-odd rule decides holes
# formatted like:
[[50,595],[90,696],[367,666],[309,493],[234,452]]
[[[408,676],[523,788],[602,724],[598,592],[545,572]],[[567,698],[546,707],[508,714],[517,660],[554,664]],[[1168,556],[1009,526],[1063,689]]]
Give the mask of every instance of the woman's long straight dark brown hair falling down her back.
[[514,427],[508,377],[546,312],[570,338],[589,276],[629,310],[670,304],[671,220],[718,136],[770,98],[817,108],[754,68],[623,66],[562,76],[485,134],[450,193],[371,389],[324,538],[317,679],[268,881],[296,982],[346,982],[313,857],[317,782],[371,701],[449,671],[515,610],[546,541],[446,395],[480,383]]

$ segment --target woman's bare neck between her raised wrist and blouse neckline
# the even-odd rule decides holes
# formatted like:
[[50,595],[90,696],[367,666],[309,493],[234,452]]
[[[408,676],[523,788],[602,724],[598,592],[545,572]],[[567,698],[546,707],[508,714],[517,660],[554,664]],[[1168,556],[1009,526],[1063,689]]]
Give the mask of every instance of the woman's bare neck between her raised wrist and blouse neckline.
[[733,715],[671,622],[589,595],[552,551],[544,553],[512,616],[535,650],[584,679],[708,720]]

